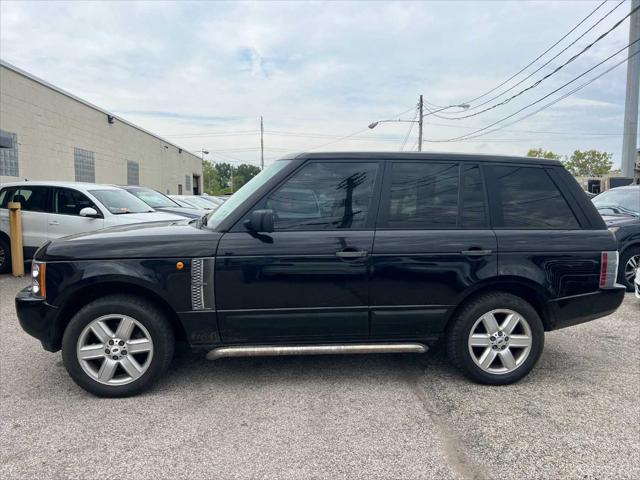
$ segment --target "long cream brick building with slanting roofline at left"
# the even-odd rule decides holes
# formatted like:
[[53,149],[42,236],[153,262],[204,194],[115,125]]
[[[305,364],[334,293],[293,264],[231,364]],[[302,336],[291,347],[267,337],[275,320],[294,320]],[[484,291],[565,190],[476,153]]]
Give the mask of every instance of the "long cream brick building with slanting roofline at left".
[[202,192],[200,157],[2,61],[0,147],[0,183],[66,180]]

